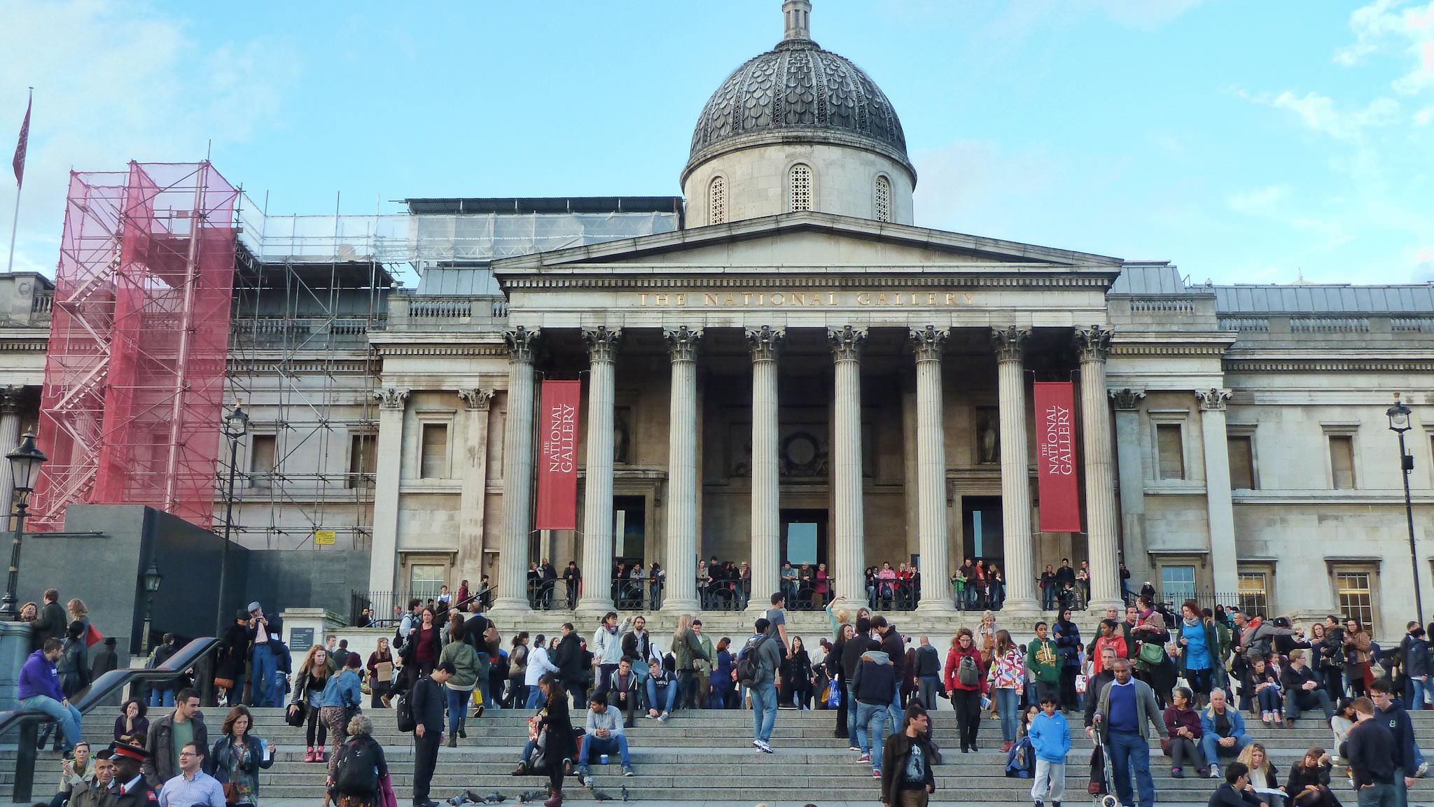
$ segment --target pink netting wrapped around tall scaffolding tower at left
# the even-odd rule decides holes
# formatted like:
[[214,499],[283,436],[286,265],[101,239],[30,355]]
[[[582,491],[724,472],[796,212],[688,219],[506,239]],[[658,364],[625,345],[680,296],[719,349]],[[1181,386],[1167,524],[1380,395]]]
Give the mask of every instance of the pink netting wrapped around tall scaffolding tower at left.
[[211,526],[238,195],[208,162],[70,173],[34,529],[118,503]]

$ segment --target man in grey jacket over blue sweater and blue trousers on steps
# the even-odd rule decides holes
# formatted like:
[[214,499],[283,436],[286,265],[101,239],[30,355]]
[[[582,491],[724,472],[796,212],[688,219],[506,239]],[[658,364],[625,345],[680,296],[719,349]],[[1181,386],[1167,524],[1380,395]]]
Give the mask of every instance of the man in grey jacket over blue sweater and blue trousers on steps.
[[1116,679],[1106,684],[1096,705],[1096,730],[1110,754],[1116,796],[1121,804],[1134,804],[1130,777],[1134,774],[1140,807],[1153,807],[1156,784],[1150,778],[1150,745],[1146,725],[1164,734],[1164,720],[1154,692],[1144,681],[1130,675],[1130,659],[1116,659]]

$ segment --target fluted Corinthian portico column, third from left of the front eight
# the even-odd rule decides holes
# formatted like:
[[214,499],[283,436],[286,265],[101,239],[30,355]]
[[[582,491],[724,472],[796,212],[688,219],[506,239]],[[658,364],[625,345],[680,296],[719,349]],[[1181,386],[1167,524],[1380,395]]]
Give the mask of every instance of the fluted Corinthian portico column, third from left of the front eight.
[[697,611],[697,343],[701,330],[663,331],[673,358],[667,443],[667,596],[663,611]]

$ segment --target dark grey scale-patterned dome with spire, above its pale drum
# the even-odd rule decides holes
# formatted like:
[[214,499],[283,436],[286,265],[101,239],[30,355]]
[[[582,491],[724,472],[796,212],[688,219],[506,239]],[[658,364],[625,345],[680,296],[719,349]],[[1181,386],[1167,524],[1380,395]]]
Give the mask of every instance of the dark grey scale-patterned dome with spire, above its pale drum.
[[[804,9],[803,9],[804,7]],[[855,146],[915,169],[896,109],[860,67],[812,42],[810,4],[789,0],[786,37],[733,70],[707,100],[685,176],[720,153],[771,142]]]

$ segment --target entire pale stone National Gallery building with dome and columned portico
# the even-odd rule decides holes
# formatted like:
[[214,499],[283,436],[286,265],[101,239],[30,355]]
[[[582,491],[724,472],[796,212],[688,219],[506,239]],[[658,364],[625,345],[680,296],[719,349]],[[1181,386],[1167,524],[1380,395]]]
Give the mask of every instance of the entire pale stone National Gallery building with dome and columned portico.
[[[750,565],[754,602],[786,562],[863,601],[866,568],[915,565],[918,611],[944,615],[981,559],[1034,618],[1041,572],[1070,559],[1091,608],[1120,602],[1124,563],[1131,591],[1345,613],[1381,638],[1430,616],[1411,593],[1415,569],[1434,591],[1434,288],[1189,285],[1166,261],[915,226],[896,109],[813,42],[810,3],[783,14],[701,109],[681,198],[412,199],[394,218],[416,290],[381,249],[250,245],[252,274],[370,308],[237,291],[237,540],[324,558],[313,596],[344,611],[350,591],[488,575],[493,609],[523,612],[546,559],[581,568],[582,612],[612,608],[617,563],[658,563],[661,611],[695,612],[717,558]],[[33,420],[43,341],[39,305],[13,308],[33,312],[0,328],[0,437]],[[327,324],[297,338],[305,317]],[[581,384],[571,434],[545,427],[554,381]],[[1061,532],[1043,532],[1037,480],[1045,383],[1074,404]],[[1412,407],[1412,559],[1394,393]],[[556,460],[572,529],[538,520]]]

